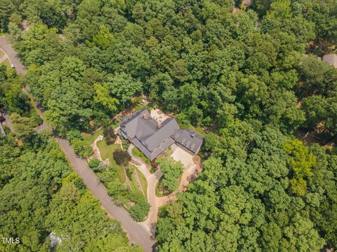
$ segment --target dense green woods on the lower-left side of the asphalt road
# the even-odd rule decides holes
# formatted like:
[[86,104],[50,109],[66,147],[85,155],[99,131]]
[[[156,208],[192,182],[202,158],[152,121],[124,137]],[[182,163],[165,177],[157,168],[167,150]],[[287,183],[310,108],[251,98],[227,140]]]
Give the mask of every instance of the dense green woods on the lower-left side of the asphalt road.
[[141,251],[131,247],[119,223],[91,196],[53,139],[34,150],[0,138],[0,234],[20,244],[1,251]]

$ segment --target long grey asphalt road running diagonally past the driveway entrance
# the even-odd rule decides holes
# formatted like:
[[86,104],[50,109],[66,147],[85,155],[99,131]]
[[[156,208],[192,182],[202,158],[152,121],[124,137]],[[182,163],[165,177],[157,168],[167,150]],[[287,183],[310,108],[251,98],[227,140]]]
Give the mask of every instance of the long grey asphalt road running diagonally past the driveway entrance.
[[[15,64],[16,71],[22,75],[25,75],[27,73],[25,66],[21,64],[18,54],[15,52],[15,50],[13,50],[11,44],[5,37],[0,37],[0,48],[5,52],[11,64]],[[24,90],[24,92],[27,92],[27,90],[29,89]],[[39,106],[38,109],[40,111],[40,116],[42,115],[43,117],[43,111],[41,111]],[[44,127],[49,126],[44,124]],[[112,216],[112,218],[115,220],[119,221],[124,230],[126,230],[130,243],[139,244],[145,251],[154,251],[154,241],[151,239],[147,230],[145,230],[145,228],[143,228],[143,226],[139,223],[136,223],[136,221],[133,221],[133,218],[131,218],[125,209],[114,204],[112,198],[107,194],[107,189],[105,186],[100,183],[95,173],[88,167],[86,160],[77,157],[77,155],[74,153],[74,150],[70,146],[69,141],[60,139],[57,136],[55,137],[58,141],[58,144],[60,144],[60,147],[65,152],[65,155],[73,169],[75,172],[77,172],[77,174],[79,174],[81,179],[83,179],[86,187],[100,201],[108,214],[110,214],[110,216]]]

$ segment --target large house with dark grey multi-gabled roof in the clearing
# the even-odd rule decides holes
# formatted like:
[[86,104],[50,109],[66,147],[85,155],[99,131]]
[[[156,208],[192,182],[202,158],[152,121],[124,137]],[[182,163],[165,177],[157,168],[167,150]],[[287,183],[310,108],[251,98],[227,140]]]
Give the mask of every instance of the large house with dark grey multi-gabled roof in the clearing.
[[178,144],[196,154],[204,141],[200,134],[192,130],[180,130],[175,118],[167,118],[162,123],[154,120],[147,109],[122,120],[118,133],[131,141],[151,161],[172,144]]

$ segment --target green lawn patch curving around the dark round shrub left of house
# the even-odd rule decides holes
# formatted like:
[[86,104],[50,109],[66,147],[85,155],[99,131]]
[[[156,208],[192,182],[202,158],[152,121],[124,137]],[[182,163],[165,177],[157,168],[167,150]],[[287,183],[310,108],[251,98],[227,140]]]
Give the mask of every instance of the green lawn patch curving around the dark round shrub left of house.
[[102,141],[98,141],[97,146],[100,149],[100,156],[102,157],[102,159],[105,160],[109,158],[110,165],[117,167],[117,175],[119,181],[121,181],[121,183],[125,183],[126,179],[124,174],[124,167],[117,165],[116,161],[114,161],[114,156],[112,155],[114,151],[121,150],[121,146],[119,144],[110,144],[110,146],[108,146],[105,139],[103,139]]

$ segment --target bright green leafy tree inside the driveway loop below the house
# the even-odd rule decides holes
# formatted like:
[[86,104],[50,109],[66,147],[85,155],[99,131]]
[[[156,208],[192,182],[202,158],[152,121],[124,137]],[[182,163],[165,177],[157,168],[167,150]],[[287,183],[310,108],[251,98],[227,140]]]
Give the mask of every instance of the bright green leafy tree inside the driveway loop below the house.
[[176,190],[180,184],[180,176],[183,174],[183,164],[176,162],[173,158],[159,158],[157,164],[163,173],[161,183],[170,192]]

